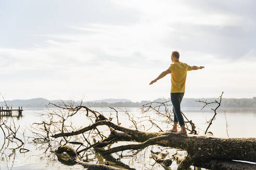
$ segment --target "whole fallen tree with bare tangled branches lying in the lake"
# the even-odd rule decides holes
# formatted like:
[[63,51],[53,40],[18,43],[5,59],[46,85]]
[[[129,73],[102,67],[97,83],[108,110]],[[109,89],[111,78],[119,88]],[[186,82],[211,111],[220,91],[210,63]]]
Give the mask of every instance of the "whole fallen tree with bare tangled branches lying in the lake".
[[[216,102],[220,105],[221,98],[219,103],[218,101]],[[207,104],[207,102],[205,103]],[[152,106],[152,104],[155,106]],[[80,145],[76,150],[67,146],[60,147],[61,149],[58,148],[56,151],[57,153],[66,152],[73,155],[71,158],[73,163],[79,163],[84,166],[86,163],[83,163],[80,159],[83,158],[82,153],[87,152],[89,149],[94,149],[104,157],[106,155],[111,155],[111,153],[122,152],[124,150],[139,150],[148,146],[158,145],[162,147],[181,149],[187,152],[187,155],[184,158],[177,154],[173,155],[173,160],[176,160],[179,164],[177,169],[188,169],[191,165],[210,169],[239,169],[241,167],[246,169],[256,168],[255,164],[233,161],[239,160],[256,162],[256,138],[217,138],[214,137],[211,132],[204,135],[198,135],[195,134],[195,124],[191,120],[186,121],[188,124],[187,130],[189,130],[191,134],[176,135],[172,132],[164,132],[161,127],[157,125],[155,120],[152,120],[148,116],[145,116],[144,118],[146,119],[138,122],[131,114],[128,114],[127,116],[129,116],[129,120],[133,125],[132,128],[131,126],[127,128],[120,125],[118,120],[118,111],[116,109],[114,109],[114,111],[116,111],[117,124],[113,122],[114,117],[111,117],[111,115],[109,118],[106,118],[99,112],[83,106],[82,104],[79,106],[73,106],[72,104],[66,105],[63,103],[62,105],[55,106],[66,110],[66,114],[63,114],[62,111],[60,112],[61,114],[57,112],[49,114],[47,120],[44,120],[42,123],[36,123],[41,127],[37,130],[44,132],[45,134],[36,134],[40,134],[40,138],[48,143],[53,140],[52,138],[61,138],[59,141],[59,145],[61,146],[67,146],[68,144]],[[159,110],[162,106],[164,107],[164,112]],[[167,119],[166,122],[172,121],[173,117],[171,116],[171,112],[166,103],[151,103],[147,105],[146,108],[147,111],[148,109],[156,111],[158,116],[162,116]],[[79,111],[85,112],[85,115],[91,121],[91,124],[80,129],[74,129],[72,123],[67,125],[67,120]],[[216,109],[214,112],[216,114]],[[59,118],[58,121],[56,121],[56,117]],[[209,126],[212,124],[214,117],[209,121]],[[155,126],[160,132],[145,132],[139,130],[139,127],[143,126],[141,123],[144,121],[150,122],[152,126]],[[101,132],[99,127],[102,126],[107,126],[109,128],[110,134],[108,136],[105,136],[106,133]],[[209,129],[209,126],[207,127],[207,130]],[[86,137],[85,134],[88,136]],[[89,138],[92,138],[93,142],[89,141]],[[97,141],[97,139],[100,140]],[[76,142],[72,142],[72,140]],[[79,140],[83,140],[82,143],[77,142]],[[111,147],[112,144],[118,143],[119,141],[130,141],[131,143]],[[64,144],[62,144],[63,142]],[[84,143],[87,143],[87,146],[85,146]],[[84,148],[80,149],[81,146]],[[161,161],[160,159],[155,160],[159,163],[164,161],[164,159]],[[170,164],[162,164],[162,166],[168,165]],[[132,169],[129,166],[120,166],[122,169]],[[97,169],[97,166],[91,166],[90,168]],[[164,168],[168,169],[168,167]]]

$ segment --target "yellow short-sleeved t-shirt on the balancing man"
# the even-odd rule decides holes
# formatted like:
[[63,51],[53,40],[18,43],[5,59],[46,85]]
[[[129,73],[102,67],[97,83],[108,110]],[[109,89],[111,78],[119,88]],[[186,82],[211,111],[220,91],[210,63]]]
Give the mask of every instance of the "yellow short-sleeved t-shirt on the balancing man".
[[171,71],[171,93],[184,93],[187,71],[192,70],[191,66],[182,62],[175,62],[168,69]]

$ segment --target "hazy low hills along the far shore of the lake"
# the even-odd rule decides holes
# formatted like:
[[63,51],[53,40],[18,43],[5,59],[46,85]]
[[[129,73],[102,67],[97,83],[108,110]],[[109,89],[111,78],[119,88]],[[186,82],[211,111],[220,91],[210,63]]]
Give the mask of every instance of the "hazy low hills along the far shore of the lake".
[[[199,103],[196,101],[214,101],[217,100],[217,98],[183,98],[181,107],[202,107],[203,103]],[[87,101],[84,102],[83,105],[90,106],[90,107],[142,107],[142,105],[145,105],[150,102],[165,102],[170,101],[170,98],[165,100],[164,98],[158,98],[153,101],[141,101],[141,102],[132,102],[131,100],[127,99],[104,99],[104,100],[95,100],[95,101]],[[32,98],[29,100],[13,100],[13,101],[6,101],[8,106],[12,106],[14,108],[17,108],[19,106],[22,106],[23,108],[43,108],[48,105],[48,103],[69,103],[70,101],[61,101],[61,100],[55,100],[55,101],[49,101],[45,98]],[[75,104],[80,104],[79,102],[75,102]],[[171,104],[171,102],[169,103]],[[5,107],[4,102],[0,102],[0,106]],[[53,107],[53,105],[49,105],[49,107]],[[209,105],[209,107],[214,107],[214,105]],[[221,107],[226,108],[256,108],[256,97],[253,98],[223,98],[221,102]]]

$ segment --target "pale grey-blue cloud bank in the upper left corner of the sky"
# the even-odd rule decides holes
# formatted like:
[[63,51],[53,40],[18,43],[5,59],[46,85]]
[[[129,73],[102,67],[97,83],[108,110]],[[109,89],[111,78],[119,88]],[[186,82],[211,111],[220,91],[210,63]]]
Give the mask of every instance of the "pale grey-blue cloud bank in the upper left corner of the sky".
[[111,1],[8,1],[0,2],[0,46],[28,49],[42,42],[39,34],[73,34],[68,25],[89,23],[131,24],[139,13]]

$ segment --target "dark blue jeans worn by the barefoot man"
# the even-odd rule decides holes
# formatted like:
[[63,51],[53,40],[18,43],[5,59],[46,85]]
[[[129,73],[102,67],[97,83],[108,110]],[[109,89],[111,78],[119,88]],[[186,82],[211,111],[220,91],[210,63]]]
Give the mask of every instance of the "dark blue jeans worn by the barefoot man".
[[184,93],[171,93],[172,110],[174,114],[174,123],[178,122],[180,126],[185,125],[183,116],[181,114],[181,101]]

